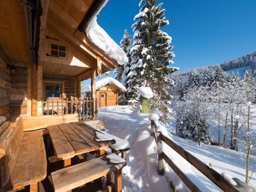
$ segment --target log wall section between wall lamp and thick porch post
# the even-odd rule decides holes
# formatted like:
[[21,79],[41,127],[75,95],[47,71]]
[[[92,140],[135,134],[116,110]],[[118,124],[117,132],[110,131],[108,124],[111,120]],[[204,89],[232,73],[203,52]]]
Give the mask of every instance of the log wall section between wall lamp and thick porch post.
[[12,88],[10,89],[10,112],[11,120],[27,116],[28,104],[28,67],[16,65],[15,74],[11,75]]

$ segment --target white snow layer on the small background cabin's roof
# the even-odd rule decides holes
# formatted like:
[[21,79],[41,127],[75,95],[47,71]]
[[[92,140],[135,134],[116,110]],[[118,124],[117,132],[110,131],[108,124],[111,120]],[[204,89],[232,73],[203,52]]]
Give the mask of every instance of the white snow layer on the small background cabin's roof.
[[[99,88],[102,88],[103,86],[107,85],[108,83],[113,83],[114,85],[116,85],[116,87],[120,88],[121,91],[123,91],[123,92],[127,91],[127,88],[125,88],[124,85],[121,84],[121,82],[118,82],[118,80],[115,80],[113,77],[105,77],[102,80],[98,80],[96,82],[96,90]],[[82,93],[87,93],[87,92],[91,92],[90,85],[84,86],[82,88]]]

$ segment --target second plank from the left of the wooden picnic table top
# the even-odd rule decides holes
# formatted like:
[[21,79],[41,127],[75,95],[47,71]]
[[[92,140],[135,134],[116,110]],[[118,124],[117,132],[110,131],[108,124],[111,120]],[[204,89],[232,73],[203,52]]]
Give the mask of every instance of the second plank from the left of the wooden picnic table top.
[[91,150],[91,146],[88,145],[72,128],[67,124],[62,123],[59,125],[59,129],[62,131],[64,136],[69,140],[69,143],[75,149],[75,153],[87,153]]

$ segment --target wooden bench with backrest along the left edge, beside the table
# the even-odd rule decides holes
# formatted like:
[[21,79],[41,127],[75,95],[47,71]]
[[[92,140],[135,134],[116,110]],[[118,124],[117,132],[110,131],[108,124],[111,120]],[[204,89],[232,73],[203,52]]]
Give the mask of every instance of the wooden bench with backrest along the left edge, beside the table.
[[0,137],[0,179],[3,191],[37,183],[47,174],[47,160],[42,131],[23,133],[22,119],[12,123]]

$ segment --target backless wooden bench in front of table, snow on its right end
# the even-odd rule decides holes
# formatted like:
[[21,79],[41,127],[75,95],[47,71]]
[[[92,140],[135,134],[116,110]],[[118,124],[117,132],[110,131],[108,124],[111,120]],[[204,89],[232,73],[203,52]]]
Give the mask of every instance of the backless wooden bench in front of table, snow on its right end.
[[[115,155],[115,154],[114,154]],[[94,158],[74,166],[58,170],[51,173],[53,187],[56,192],[70,191],[78,188],[100,177],[107,178],[107,188],[112,185],[112,172],[115,174],[115,191],[121,191],[121,168],[126,165],[126,162],[121,164],[111,164],[107,155],[101,158]],[[119,157],[120,158],[120,157]]]

